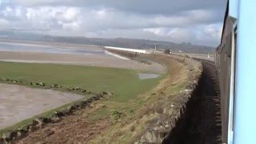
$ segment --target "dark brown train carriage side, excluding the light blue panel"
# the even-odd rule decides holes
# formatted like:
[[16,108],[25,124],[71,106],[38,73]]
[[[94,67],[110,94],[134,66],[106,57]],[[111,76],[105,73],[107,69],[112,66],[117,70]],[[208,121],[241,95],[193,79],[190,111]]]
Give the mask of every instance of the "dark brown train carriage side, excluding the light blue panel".
[[[234,18],[229,16],[229,2],[222,29],[221,43],[215,52],[215,66],[218,75],[219,89],[221,95],[222,115],[222,142],[227,143],[228,134],[232,132],[234,112],[234,51],[237,39],[237,24]],[[233,105],[233,106],[232,106]]]

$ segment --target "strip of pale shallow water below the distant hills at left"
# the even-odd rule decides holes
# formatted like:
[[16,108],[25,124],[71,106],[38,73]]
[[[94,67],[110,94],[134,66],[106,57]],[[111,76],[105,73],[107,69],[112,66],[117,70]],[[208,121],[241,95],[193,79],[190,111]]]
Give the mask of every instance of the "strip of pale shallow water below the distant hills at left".
[[76,50],[75,48],[65,48],[61,46],[34,45],[24,43],[0,42],[0,51],[14,52],[38,52],[50,54],[82,54],[82,55],[102,55],[108,56],[104,50]]

